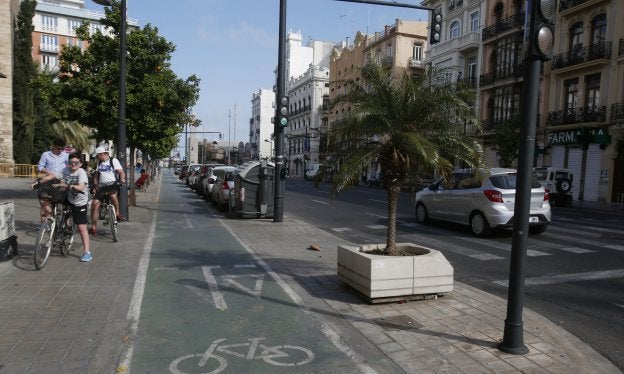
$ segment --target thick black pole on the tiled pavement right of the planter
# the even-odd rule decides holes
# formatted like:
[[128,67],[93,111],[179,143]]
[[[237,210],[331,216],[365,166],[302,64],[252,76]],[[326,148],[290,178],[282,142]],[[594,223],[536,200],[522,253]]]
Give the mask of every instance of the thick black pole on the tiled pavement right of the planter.
[[535,152],[541,61],[537,58],[529,58],[525,61],[526,70],[522,83],[523,118],[520,129],[516,204],[509,264],[507,318],[505,319],[503,341],[498,345],[498,349],[501,351],[512,354],[529,352],[523,343],[522,309],[524,306],[524,267],[531,210],[531,173],[533,153]]

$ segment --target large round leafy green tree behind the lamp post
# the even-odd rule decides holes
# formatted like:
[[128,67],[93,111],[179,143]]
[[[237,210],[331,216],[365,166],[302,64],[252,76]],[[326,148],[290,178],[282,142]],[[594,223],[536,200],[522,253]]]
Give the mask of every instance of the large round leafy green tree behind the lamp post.
[[[114,38],[89,34],[83,24],[76,34],[89,47],[65,47],[61,52],[57,117],[95,129],[98,140],[117,139],[119,93],[119,2],[106,8],[102,24]],[[127,38],[127,144],[152,158],[168,156],[177,144],[182,124],[191,118],[188,108],[199,97],[199,79],[178,78],[171,70],[175,46],[146,25],[130,28]]]

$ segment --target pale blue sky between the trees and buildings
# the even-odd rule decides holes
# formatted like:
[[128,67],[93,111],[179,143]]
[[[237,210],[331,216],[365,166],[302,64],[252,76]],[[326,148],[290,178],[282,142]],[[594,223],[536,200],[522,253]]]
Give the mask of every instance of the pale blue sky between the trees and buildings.
[[[399,0],[420,5],[420,0]],[[128,17],[158,28],[176,46],[173,71],[201,79],[193,113],[198,131],[223,133],[224,141],[249,142],[251,96],[272,89],[277,67],[279,0],[127,0]],[[101,10],[90,0],[89,9]],[[286,30],[310,40],[353,41],[357,31],[383,31],[397,18],[428,20],[423,10],[336,0],[287,0]],[[218,140],[218,134],[199,135]]]

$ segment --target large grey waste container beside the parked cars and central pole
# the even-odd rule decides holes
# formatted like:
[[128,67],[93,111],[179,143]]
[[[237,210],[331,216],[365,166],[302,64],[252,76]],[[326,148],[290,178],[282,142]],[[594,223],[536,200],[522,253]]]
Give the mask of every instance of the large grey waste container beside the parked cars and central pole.
[[275,164],[247,161],[239,166],[230,193],[230,207],[241,218],[273,217],[273,174]]

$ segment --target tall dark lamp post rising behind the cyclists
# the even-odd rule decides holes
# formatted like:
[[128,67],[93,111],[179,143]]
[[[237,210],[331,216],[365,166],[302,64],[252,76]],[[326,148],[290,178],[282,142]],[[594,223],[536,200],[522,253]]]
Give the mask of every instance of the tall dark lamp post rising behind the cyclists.
[[[112,6],[112,0],[93,0],[94,3],[104,6]],[[117,128],[117,159],[121,163],[124,172],[127,169],[126,162],[126,0],[121,0],[121,26],[119,27],[119,103]],[[127,180],[127,176],[126,176]],[[119,210],[121,215],[130,219],[128,214],[128,185],[122,184],[119,189]]]

